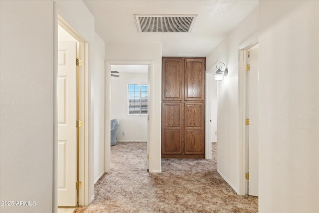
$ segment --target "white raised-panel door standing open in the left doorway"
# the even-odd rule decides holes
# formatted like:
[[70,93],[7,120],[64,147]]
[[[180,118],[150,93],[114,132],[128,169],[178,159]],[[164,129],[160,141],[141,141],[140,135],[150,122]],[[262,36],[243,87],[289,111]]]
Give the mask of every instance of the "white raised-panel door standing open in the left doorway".
[[58,43],[58,206],[76,206],[76,42]]

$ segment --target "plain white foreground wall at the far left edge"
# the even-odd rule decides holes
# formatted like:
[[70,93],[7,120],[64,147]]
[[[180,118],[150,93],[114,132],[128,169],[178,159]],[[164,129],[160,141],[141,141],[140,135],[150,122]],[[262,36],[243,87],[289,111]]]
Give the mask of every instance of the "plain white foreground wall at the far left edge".
[[53,35],[52,1],[0,1],[0,200],[36,204],[1,213],[54,209]]

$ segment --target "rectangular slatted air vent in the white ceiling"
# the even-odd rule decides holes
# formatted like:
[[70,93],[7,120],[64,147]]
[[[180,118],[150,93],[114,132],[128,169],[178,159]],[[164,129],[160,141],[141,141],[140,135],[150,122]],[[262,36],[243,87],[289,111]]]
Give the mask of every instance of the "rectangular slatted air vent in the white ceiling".
[[134,15],[139,32],[190,32],[194,15]]

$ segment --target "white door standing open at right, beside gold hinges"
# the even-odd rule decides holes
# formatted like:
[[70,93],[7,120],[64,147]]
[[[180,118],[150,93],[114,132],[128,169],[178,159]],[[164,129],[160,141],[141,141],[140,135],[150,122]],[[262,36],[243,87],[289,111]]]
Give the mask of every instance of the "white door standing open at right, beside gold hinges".
[[258,196],[258,49],[249,56],[248,194]]

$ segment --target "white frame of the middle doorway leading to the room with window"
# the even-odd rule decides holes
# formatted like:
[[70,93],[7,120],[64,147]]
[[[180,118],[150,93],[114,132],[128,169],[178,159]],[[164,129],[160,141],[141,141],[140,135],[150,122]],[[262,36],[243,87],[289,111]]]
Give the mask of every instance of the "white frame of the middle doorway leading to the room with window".
[[[111,66],[112,65],[148,65],[148,142],[147,142],[147,156],[152,149],[152,138],[150,133],[153,130],[153,125],[150,122],[150,114],[152,113],[152,97],[150,89],[152,89],[151,72],[154,69],[154,62],[148,60],[105,60],[105,151],[104,151],[104,171],[106,173],[111,170]],[[147,159],[147,169],[149,170],[150,159]]]

